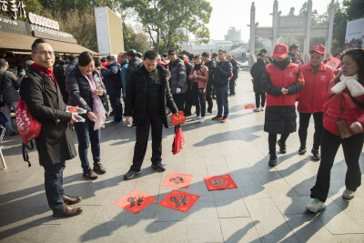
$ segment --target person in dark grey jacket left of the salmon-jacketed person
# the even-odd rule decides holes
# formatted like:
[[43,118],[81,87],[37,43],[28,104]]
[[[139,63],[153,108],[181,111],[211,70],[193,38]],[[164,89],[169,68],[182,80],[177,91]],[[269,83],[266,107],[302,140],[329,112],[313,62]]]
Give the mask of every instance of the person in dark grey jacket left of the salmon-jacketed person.
[[171,88],[173,100],[176,102],[178,110],[185,108],[185,96],[187,92],[187,74],[186,66],[181,59],[177,57],[175,50],[168,51],[168,58],[170,60],[169,71],[171,77],[169,79],[169,86]]

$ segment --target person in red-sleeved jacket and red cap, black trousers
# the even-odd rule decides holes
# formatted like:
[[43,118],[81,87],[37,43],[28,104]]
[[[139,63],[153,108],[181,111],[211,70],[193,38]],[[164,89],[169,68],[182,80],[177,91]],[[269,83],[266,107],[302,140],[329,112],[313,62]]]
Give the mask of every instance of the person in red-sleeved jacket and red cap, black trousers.
[[313,136],[312,157],[319,160],[319,145],[322,133],[322,114],[324,108],[322,104],[326,101],[329,82],[334,78],[331,67],[323,64],[325,59],[325,46],[317,45],[309,51],[309,63],[299,66],[305,78],[305,87],[299,93],[298,112],[299,128],[298,136],[300,147],[299,155],[306,153],[306,140],[308,135],[308,124],[311,115],[315,121],[315,134]]

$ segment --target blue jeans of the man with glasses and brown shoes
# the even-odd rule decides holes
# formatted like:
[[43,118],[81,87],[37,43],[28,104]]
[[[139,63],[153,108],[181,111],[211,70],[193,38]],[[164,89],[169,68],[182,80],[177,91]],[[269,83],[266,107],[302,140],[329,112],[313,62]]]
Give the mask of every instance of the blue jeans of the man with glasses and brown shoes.
[[64,205],[63,196],[63,170],[66,167],[66,161],[56,165],[45,167],[45,196],[49,208],[53,211],[61,209]]

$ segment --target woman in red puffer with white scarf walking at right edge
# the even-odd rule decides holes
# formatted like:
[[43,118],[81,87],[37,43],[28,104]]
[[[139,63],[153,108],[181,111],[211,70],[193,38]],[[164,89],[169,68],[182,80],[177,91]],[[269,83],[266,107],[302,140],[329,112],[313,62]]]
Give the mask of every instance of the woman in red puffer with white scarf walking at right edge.
[[330,171],[340,145],[348,166],[342,197],[353,198],[361,184],[359,157],[364,143],[364,50],[349,50],[341,57],[341,66],[341,75],[330,82],[329,100],[324,104],[321,163],[316,184],[311,188],[314,200],[306,207],[315,213],[326,208]]

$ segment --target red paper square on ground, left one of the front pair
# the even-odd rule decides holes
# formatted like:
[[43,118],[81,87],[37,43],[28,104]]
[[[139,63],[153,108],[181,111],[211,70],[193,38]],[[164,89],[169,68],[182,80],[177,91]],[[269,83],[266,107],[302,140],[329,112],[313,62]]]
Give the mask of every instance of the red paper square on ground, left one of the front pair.
[[126,210],[137,214],[139,211],[147,208],[147,206],[155,200],[157,200],[157,197],[134,190],[125,197],[118,199],[114,204],[120,208],[125,208]]

